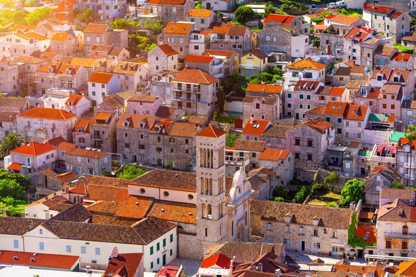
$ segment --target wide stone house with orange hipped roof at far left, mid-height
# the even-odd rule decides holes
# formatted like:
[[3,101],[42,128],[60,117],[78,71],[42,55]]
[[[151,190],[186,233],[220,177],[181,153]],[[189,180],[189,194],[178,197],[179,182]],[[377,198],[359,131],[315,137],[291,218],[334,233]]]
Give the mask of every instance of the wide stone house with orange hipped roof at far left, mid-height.
[[58,136],[72,141],[75,123],[75,114],[62,109],[34,107],[17,115],[17,133],[27,142],[42,142]]

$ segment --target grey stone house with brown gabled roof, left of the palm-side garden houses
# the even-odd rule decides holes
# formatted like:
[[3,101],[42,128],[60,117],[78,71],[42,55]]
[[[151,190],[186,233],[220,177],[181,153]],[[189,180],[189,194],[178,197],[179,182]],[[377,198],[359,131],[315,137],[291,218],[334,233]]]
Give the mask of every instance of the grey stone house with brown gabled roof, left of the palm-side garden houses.
[[312,118],[286,131],[287,149],[295,155],[295,168],[322,167],[328,148],[335,143],[333,124]]

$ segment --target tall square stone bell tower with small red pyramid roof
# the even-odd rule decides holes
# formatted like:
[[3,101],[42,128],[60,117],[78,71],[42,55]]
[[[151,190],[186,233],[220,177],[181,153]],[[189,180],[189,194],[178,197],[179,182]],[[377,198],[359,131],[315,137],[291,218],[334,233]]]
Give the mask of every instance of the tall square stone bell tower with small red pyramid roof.
[[225,134],[208,126],[196,136],[196,240],[204,249],[226,241]]

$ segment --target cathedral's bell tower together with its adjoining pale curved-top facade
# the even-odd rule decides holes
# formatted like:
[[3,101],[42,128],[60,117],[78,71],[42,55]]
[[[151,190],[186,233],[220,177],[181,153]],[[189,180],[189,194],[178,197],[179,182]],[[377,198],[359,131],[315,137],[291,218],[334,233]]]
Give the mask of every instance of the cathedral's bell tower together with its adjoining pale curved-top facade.
[[[250,240],[250,195],[240,168],[227,187],[225,134],[208,126],[196,134],[196,240],[200,257],[208,247],[230,240]],[[228,193],[226,193],[228,191]]]

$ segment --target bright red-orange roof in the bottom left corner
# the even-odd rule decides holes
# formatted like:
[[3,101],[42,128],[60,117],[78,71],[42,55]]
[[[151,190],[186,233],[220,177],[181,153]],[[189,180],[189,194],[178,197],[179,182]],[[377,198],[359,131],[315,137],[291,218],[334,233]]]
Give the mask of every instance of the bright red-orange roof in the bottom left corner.
[[[14,257],[17,257],[17,260]],[[32,258],[35,260],[32,261]],[[2,265],[28,266],[39,269],[72,270],[79,263],[79,258],[79,256],[0,250]]]

